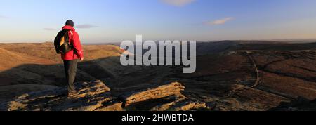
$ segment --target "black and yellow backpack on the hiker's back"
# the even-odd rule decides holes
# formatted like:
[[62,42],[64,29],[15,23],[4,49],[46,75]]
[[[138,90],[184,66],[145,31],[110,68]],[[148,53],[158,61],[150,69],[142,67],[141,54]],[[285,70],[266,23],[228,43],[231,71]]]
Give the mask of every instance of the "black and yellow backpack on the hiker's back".
[[57,37],[54,41],[56,53],[65,54],[69,51],[72,51],[73,46],[69,41],[69,32],[72,34],[70,30],[64,29],[57,34]]

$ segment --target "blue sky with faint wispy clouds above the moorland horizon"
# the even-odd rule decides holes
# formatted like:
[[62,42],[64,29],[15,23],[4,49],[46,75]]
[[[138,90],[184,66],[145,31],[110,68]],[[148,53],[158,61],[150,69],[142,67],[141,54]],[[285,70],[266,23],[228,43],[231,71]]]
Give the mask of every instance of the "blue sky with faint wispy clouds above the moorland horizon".
[[316,39],[315,0],[0,0],[0,42]]

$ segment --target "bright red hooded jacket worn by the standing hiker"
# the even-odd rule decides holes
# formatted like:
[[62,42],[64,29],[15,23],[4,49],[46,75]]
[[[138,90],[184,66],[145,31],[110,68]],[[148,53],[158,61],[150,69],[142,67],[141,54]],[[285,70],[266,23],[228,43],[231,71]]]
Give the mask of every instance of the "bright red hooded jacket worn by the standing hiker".
[[62,27],[62,29],[70,30],[70,32],[68,32],[69,41],[74,47],[72,51],[61,55],[62,60],[77,60],[79,58],[84,58],[84,51],[82,50],[79,34],[75,31],[74,27],[66,25]]

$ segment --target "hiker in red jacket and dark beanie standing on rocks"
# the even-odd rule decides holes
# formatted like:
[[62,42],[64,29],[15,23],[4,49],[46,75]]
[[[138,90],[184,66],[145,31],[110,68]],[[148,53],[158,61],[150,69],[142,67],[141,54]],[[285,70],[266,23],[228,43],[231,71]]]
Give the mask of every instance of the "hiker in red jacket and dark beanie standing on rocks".
[[76,95],[78,91],[74,87],[74,79],[77,73],[77,60],[83,61],[84,53],[72,20],[67,20],[66,25],[55,38],[54,44],[56,52],[61,54],[64,61],[68,96]]

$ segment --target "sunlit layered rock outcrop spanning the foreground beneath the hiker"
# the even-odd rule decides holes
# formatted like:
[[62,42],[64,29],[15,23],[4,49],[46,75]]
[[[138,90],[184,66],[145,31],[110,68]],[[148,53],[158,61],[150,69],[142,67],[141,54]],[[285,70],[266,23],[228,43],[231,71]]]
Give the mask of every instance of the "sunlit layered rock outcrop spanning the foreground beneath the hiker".
[[[205,103],[187,100],[180,91],[179,83],[171,83],[144,91],[127,92],[113,96],[110,88],[102,81],[77,83],[78,95],[67,97],[65,88],[52,88],[18,96],[1,104],[7,111],[124,111],[139,110],[142,103],[155,101],[157,106],[150,110],[197,110],[207,109]],[[148,103],[152,105],[152,103]]]

